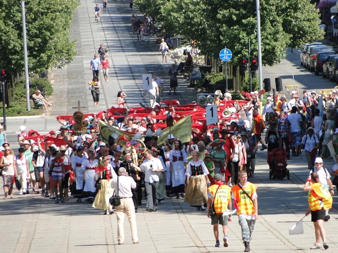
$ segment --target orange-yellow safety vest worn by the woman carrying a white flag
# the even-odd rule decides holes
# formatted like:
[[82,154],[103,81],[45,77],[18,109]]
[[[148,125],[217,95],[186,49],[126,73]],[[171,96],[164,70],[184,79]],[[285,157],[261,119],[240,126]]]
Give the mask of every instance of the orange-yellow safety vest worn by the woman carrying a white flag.
[[330,209],[332,207],[332,196],[328,189],[318,183],[313,183],[310,185],[312,190],[308,194],[308,202],[311,208],[311,211],[317,211],[321,209],[321,204],[323,204],[324,210]]

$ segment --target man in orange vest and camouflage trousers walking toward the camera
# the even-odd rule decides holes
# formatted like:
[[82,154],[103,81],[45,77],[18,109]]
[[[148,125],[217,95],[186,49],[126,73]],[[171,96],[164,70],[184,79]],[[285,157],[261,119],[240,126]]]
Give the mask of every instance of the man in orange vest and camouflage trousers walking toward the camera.
[[248,181],[245,170],[238,172],[238,179],[240,182],[232,187],[232,199],[242,229],[244,252],[249,252],[252,231],[258,219],[257,186]]

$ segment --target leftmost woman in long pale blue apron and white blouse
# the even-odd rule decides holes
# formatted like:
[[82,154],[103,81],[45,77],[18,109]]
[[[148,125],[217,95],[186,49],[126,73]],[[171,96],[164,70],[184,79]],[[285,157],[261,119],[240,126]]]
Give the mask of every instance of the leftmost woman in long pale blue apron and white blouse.
[[74,197],[78,198],[77,203],[81,203],[83,189],[83,170],[82,162],[87,159],[87,153],[84,153],[84,146],[80,145],[76,149],[76,154],[72,155],[72,168],[74,172],[74,181],[76,183],[76,191]]

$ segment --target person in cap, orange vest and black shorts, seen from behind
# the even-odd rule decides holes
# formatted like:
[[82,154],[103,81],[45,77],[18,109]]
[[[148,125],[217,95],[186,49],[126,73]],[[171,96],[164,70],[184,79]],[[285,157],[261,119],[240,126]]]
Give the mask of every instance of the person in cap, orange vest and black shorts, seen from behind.
[[222,175],[219,173],[215,174],[214,180],[215,184],[208,187],[207,216],[211,218],[211,225],[213,225],[215,247],[220,246],[218,224],[223,227],[223,246],[228,247],[228,218],[223,217],[223,211],[232,210],[231,188],[221,181]]

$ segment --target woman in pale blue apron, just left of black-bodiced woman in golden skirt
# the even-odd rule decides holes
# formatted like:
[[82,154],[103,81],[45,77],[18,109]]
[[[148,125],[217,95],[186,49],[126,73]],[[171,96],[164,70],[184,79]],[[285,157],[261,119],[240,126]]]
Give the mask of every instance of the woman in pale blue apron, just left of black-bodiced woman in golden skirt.
[[170,152],[170,171],[172,173],[172,194],[176,195],[176,199],[184,198],[185,172],[187,168],[187,153],[183,149],[180,140],[175,140],[175,148]]

